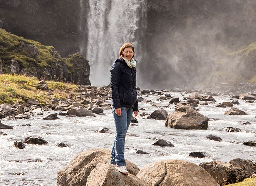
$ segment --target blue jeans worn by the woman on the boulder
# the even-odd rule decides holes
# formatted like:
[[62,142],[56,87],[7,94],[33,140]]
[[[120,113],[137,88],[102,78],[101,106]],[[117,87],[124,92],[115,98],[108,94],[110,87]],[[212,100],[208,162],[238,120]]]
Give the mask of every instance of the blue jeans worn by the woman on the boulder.
[[126,166],[125,163],[125,135],[131,123],[132,108],[121,107],[121,116],[118,116],[113,109],[114,123],[116,127],[116,135],[111,151],[110,163],[117,166]]

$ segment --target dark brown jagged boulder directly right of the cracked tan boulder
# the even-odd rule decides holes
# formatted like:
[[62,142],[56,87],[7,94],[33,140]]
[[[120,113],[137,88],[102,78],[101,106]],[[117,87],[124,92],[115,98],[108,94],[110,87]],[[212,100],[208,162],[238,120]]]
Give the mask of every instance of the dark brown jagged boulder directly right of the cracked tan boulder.
[[251,176],[251,174],[241,168],[234,167],[230,163],[223,163],[221,161],[211,161],[199,164],[203,167],[219,185],[226,185],[230,183],[237,183],[243,181],[245,178]]

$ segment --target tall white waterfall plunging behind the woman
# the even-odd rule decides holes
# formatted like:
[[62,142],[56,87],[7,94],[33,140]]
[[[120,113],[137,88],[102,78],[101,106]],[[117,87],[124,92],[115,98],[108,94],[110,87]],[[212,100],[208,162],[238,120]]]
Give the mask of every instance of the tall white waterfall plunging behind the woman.
[[138,51],[139,35],[144,30],[141,27],[145,25],[145,7],[145,0],[89,0],[86,53],[92,85],[109,84],[109,69],[124,43],[131,42]]

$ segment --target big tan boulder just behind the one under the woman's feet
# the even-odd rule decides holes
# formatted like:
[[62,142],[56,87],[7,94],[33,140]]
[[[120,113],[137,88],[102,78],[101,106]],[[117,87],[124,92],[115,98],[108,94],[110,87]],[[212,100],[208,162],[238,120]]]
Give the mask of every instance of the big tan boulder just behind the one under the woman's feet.
[[[108,149],[89,149],[76,154],[76,156],[57,173],[58,186],[86,185],[87,178],[98,163],[109,163],[111,152]],[[125,160],[127,170],[136,175],[139,168]]]

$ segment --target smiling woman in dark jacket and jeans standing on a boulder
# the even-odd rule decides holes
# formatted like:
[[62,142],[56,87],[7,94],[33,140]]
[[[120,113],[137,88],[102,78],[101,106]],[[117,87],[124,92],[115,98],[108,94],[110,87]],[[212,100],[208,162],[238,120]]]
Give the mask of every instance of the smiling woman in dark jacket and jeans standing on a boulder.
[[133,117],[138,115],[138,100],[136,93],[136,62],[134,57],[134,46],[125,43],[119,50],[119,58],[116,59],[110,69],[111,105],[116,127],[110,165],[128,174],[124,158],[125,135]]

